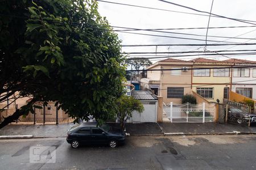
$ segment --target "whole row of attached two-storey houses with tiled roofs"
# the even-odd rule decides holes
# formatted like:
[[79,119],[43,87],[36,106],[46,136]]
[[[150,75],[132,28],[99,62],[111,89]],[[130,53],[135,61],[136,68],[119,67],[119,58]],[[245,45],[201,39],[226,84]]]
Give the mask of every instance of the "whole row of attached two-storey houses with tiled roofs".
[[[251,68],[237,69],[238,66]],[[186,94],[199,94],[209,102],[216,102],[218,99],[221,103],[223,99],[229,99],[230,91],[252,99],[255,99],[256,95],[254,61],[217,61],[207,58],[184,61],[167,58],[148,66],[147,70],[147,78],[141,79],[141,89],[150,89],[156,95],[163,96],[163,102],[166,104],[179,104]]]

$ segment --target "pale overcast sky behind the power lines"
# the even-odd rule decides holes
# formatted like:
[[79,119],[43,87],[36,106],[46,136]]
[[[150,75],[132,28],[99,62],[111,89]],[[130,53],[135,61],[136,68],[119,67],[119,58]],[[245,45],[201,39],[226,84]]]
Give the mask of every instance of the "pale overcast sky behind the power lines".
[[[113,3],[99,2],[98,11],[101,16],[106,16],[110,25],[113,27],[129,27],[139,29],[164,29],[161,31],[174,32],[174,33],[163,33],[163,32],[151,32],[151,31],[127,31],[133,33],[144,33],[151,35],[160,36],[171,36],[171,37],[159,37],[159,36],[147,36],[147,35],[135,35],[131,33],[118,33],[118,37],[122,40],[122,45],[145,45],[145,44],[204,44],[203,46],[135,46],[135,47],[122,47],[122,52],[134,53],[134,52],[151,52],[153,54],[130,54],[130,57],[159,57],[159,55],[168,56],[180,56],[184,55],[181,53],[177,54],[156,54],[155,52],[194,52],[185,54],[198,55],[205,54],[204,51],[214,50],[254,50],[256,45],[228,45],[228,46],[205,46],[206,35],[207,44],[225,44],[225,43],[256,43],[256,27],[244,27],[244,28],[209,28],[207,29],[174,29],[170,30],[167,28],[197,28],[197,27],[237,27],[237,26],[256,26],[256,1],[255,0],[165,0],[167,2],[177,3],[179,5],[195,8],[196,10],[210,12],[212,6],[212,14],[226,16],[228,18],[236,18],[243,20],[250,20],[255,22],[243,23],[236,20],[230,20],[225,18],[217,18],[209,14],[190,10],[188,8],[179,7],[170,3],[161,2],[158,0],[105,0],[108,2],[125,3],[129,5],[160,8],[161,11],[148,8],[140,8],[133,6],[117,5]],[[213,5],[212,5],[213,2]],[[177,12],[173,12],[177,11]],[[193,14],[183,14],[180,12],[189,12]],[[194,15],[194,14],[203,14]],[[113,28],[114,30],[121,30],[122,28]],[[177,33],[189,33],[200,36],[192,35],[180,35]],[[211,37],[211,36],[222,36],[222,37]],[[225,36],[225,37],[223,37]],[[186,40],[174,37],[192,38],[199,40]],[[227,38],[230,37],[230,38]],[[240,39],[234,39],[234,37]],[[211,42],[217,41],[217,42]],[[222,41],[222,42],[220,42]],[[228,41],[228,42],[226,42]],[[205,49],[205,50],[204,50]],[[223,52],[223,53],[245,53],[245,52]],[[248,52],[246,52],[248,53]],[[216,54],[216,53],[215,53]],[[157,55],[157,56],[156,56]],[[225,55],[224,55],[225,56]],[[224,60],[229,58],[240,58],[256,61],[256,53],[254,55],[226,55],[224,56],[193,56],[193,57],[175,57],[176,59],[193,59],[196,57],[204,57],[209,59]],[[229,58],[228,58],[229,57]],[[152,62],[159,61],[157,58],[151,59]]]

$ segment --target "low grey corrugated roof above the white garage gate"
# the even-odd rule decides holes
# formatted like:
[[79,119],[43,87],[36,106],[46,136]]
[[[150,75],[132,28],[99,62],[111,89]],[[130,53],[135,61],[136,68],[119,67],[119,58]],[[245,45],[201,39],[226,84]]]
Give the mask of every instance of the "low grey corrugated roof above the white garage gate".
[[131,91],[131,96],[136,100],[158,100],[151,91]]

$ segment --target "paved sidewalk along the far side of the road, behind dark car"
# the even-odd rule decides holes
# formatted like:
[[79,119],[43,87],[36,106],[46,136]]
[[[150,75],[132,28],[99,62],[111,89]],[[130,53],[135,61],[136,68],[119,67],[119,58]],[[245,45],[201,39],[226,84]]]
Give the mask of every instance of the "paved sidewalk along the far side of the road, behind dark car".
[[[2,135],[32,135],[34,138],[66,137],[74,124],[63,125],[7,125],[0,129]],[[215,123],[142,123],[126,124],[130,135],[204,135],[204,134],[256,134],[256,125],[244,127]]]

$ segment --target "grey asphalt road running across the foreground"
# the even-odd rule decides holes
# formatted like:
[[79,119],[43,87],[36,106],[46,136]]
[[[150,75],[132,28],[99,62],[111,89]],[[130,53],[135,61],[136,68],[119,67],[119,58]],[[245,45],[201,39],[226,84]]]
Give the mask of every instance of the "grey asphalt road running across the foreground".
[[78,149],[65,138],[2,139],[0,169],[256,169],[255,153],[256,135],[129,137],[118,148]]

